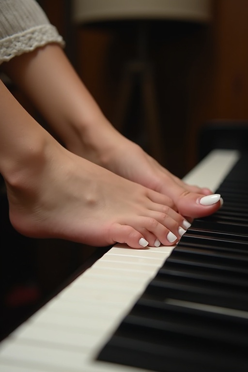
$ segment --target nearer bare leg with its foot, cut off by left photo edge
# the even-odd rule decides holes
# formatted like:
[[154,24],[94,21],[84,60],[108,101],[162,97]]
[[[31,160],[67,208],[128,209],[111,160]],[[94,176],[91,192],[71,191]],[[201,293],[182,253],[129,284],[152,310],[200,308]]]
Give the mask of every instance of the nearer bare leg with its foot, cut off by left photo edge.
[[172,200],[62,147],[0,83],[0,172],[10,220],[31,237],[141,248],[180,238]]

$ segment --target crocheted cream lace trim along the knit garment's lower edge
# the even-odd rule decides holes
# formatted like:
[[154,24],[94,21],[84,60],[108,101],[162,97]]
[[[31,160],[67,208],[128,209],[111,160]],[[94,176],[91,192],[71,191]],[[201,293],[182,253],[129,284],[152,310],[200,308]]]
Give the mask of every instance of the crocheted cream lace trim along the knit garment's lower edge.
[[49,43],[58,43],[62,47],[64,46],[62,36],[52,25],[42,25],[8,36],[0,40],[0,63]]

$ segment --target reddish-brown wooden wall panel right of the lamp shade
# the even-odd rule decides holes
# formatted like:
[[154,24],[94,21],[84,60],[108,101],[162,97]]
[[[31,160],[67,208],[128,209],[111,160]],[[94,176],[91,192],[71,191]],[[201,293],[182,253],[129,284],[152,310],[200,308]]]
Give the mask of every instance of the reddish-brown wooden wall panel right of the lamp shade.
[[216,1],[216,117],[248,118],[248,1]]

